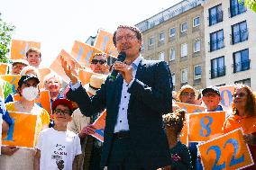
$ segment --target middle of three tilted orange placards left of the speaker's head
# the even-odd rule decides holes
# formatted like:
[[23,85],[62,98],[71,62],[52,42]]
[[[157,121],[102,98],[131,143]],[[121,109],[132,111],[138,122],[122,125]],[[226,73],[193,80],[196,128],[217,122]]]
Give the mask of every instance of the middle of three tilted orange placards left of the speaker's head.
[[75,40],[71,54],[79,64],[84,67],[89,67],[94,54],[99,52],[101,52],[100,49]]

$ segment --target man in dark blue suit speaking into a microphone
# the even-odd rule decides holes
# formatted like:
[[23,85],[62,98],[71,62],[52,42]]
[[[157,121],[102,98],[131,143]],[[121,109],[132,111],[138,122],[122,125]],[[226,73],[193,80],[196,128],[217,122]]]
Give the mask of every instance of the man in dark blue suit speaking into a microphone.
[[83,114],[91,116],[106,108],[104,148],[101,165],[108,170],[157,169],[170,165],[168,139],[162,114],[171,112],[172,81],[164,61],[142,58],[142,32],[121,25],[114,32],[114,45],[126,53],[124,62],[116,61],[119,75],[110,77],[92,97],[61,58],[71,83],[67,97],[78,103]]

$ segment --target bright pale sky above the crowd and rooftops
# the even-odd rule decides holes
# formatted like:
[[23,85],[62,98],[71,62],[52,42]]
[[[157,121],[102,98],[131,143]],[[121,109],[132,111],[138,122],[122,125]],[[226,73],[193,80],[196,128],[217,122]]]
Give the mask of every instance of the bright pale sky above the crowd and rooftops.
[[0,0],[1,19],[14,25],[14,40],[41,42],[43,67],[61,49],[71,52],[98,29],[111,33],[120,24],[135,25],[181,0]]

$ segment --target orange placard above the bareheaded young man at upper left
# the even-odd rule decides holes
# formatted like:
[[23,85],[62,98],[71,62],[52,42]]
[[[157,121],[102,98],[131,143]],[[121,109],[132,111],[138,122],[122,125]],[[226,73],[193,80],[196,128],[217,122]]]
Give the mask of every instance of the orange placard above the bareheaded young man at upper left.
[[26,52],[30,48],[41,48],[40,42],[25,41],[25,40],[12,40],[11,59],[26,58]]

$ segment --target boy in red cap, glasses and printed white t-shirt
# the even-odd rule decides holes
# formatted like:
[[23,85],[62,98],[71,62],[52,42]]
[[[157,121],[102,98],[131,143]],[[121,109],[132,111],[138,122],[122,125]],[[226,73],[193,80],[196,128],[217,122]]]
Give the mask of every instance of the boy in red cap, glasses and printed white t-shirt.
[[72,103],[57,99],[51,107],[54,127],[42,130],[39,135],[34,170],[75,170],[81,146],[78,135],[67,130],[67,124],[72,120]]

